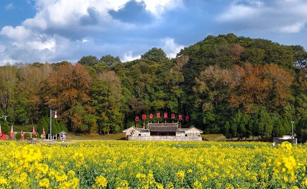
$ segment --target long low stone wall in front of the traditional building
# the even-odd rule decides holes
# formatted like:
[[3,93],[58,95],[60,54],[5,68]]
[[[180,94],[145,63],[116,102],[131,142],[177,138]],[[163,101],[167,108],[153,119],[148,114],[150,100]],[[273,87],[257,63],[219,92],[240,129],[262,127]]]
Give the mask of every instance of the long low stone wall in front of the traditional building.
[[139,141],[202,141],[201,136],[126,136],[126,140]]

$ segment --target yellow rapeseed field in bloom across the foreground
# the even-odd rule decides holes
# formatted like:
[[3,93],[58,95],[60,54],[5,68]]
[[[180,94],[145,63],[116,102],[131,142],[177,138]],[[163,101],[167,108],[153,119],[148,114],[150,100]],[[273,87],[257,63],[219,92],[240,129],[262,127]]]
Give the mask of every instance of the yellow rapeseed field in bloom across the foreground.
[[1,188],[306,188],[307,146],[0,142]]

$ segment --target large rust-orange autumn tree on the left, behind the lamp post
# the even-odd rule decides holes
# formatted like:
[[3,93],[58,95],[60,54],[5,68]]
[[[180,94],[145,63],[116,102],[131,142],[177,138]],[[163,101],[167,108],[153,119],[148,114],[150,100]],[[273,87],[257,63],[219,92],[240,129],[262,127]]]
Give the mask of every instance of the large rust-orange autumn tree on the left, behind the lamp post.
[[86,104],[90,99],[91,81],[91,76],[79,63],[60,66],[49,78],[47,105],[62,114],[59,119],[67,123],[72,131],[80,129],[83,113],[91,111]]

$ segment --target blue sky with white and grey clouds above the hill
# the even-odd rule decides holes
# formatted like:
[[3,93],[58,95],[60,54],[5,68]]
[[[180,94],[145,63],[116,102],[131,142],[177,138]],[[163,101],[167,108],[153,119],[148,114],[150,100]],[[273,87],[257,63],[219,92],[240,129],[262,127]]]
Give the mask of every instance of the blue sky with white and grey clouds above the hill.
[[0,66],[122,62],[152,47],[174,58],[208,35],[234,33],[307,49],[307,0],[1,0]]

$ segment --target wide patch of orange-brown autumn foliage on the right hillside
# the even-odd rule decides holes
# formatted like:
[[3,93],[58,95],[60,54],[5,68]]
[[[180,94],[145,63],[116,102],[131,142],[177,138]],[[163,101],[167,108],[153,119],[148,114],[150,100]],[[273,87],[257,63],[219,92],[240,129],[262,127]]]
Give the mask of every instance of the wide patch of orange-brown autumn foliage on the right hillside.
[[247,114],[252,114],[255,105],[284,106],[291,96],[293,76],[276,64],[252,66],[246,63],[232,67],[224,82],[229,88],[229,106],[242,107]]

